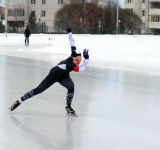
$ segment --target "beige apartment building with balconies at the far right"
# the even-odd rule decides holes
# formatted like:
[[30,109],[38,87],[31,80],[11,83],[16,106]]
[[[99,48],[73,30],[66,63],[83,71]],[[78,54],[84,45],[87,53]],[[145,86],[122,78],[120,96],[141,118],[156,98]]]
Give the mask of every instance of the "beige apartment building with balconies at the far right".
[[141,17],[142,34],[160,34],[160,0],[124,0],[124,8]]

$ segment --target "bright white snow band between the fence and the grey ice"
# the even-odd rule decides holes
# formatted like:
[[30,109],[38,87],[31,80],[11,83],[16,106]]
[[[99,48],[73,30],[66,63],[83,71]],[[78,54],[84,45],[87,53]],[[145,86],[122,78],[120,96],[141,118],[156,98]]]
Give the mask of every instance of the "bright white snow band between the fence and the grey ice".
[[[83,52],[84,48],[89,49],[90,66],[160,74],[159,36],[75,34],[73,37],[78,50]],[[3,53],[10,52],[8,55],[12,55],[11,51],[18,51],[31,58],[36,58],[39,54],[70,55],[67,34],[32,34],[27,50],[23,34],[0,34],[0,48],[2,47],[5,49]]]

